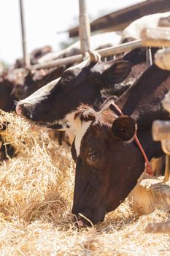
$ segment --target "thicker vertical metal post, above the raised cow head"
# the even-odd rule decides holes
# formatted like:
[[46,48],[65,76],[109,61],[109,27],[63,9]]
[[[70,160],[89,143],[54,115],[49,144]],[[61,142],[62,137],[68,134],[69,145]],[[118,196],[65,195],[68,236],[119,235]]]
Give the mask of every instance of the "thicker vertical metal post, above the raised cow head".
[[90,23],[88,19],[88,10],[86,0],[79,0],[80,17],[79,17],[79,37],[81,52],[85,56],[85,53],[90,48]]

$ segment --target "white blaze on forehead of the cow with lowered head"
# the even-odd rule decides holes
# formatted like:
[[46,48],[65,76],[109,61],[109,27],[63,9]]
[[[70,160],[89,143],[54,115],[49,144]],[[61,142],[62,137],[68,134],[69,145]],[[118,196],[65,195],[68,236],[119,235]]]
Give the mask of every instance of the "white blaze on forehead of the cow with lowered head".
[[76,127],[76,136],[75,136],[75,149],[77,153],[77,157],[80,155],[80,146],[82,142],[82,138],[85,135],[85,132],[87,131],[88,127],[90,127],[92,121],[80,121],[80,118],[76,118],[75,124],[77,124]]

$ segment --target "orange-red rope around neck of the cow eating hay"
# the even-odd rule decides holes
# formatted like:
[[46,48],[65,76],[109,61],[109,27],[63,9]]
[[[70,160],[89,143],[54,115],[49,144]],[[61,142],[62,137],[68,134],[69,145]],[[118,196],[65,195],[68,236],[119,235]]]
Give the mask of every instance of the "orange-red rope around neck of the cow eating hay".
[[[123,112],[120,110],[120,108],[117,107],[115,102],[112,102],[112,105],[120,116],[125,116],[125,115],[123,115]],[[141,151],[141,153],[144,157],[145,168],[147,170],[147,174],[150,175],[150,176],[153,176],[153,170],[152,170],[150,162],[147,158],[147,154],[144,152],[144,148],[142,147],[142,144],[140,143],[139,139],[137,138],[137,135],[134,135],[134,140],[136,141],[137,146],[139,146],[139,149],[140,149],[140,151]]]

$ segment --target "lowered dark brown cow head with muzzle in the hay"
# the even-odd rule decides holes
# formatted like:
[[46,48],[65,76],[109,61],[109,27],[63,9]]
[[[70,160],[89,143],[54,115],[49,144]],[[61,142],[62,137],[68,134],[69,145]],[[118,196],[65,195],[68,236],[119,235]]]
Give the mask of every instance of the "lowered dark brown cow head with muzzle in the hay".
[[84,225],[96,224],[134,188],[144,170],[144,159],[132,140],[135,124],[131,117],[117,117],[109,108],[96,113],[83,106],[75,114],[75,123],[72,213]]

